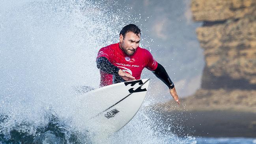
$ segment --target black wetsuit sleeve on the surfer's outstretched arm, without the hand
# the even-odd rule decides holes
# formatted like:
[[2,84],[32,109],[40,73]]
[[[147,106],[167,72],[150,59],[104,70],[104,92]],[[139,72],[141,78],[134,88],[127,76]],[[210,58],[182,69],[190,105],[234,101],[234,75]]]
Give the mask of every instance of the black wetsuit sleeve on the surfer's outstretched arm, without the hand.
[[161,81],[163,81],[169,89],[174,88],[174,84],[173,84],[172,80],[170,79],[170,77],[168,76],[166,70],[164,69],[164,67],[162,65],[160,65],[158,63],[157,68],[155,70],[153,70],[152,72],[153,72],[153,74],[155,74],[155,76],[157,76],[157,78],[161,79]]

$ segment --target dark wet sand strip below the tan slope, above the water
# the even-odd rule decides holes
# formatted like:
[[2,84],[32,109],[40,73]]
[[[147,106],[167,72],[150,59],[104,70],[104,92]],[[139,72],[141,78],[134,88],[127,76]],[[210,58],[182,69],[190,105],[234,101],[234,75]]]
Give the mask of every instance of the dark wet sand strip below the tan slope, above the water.
[[[235,111],[161,112],[172,117],[165,123],[183,127],[173,129],[178,135],[199,137],[256,137],[256,113]],[[171,122],[172,121],[172,122]],[[183,134],[181,134],[183,132]]]

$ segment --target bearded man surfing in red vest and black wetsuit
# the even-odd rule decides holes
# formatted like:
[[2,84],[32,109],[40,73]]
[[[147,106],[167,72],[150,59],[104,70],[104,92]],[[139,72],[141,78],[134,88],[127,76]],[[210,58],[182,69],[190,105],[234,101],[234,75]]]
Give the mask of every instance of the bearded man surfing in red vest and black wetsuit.
[[157,63],[151,53],[140,48],[140,29],[128,24],[120,31],[120,42],[99,50],[96,63],[100,70],[100,86],[140,79],[143,68],[151,70],[169,88],[174,100],[180,104],[174,83],[164,67]]

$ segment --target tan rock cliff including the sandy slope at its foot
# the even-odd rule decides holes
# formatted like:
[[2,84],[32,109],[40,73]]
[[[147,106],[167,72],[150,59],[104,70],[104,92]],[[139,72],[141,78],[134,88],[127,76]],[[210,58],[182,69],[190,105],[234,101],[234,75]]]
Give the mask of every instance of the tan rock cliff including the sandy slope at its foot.
[[[256,112],[256,0],[192,0],[206,66],[187,107]],[[192,108],[192,109],[193,109]]]

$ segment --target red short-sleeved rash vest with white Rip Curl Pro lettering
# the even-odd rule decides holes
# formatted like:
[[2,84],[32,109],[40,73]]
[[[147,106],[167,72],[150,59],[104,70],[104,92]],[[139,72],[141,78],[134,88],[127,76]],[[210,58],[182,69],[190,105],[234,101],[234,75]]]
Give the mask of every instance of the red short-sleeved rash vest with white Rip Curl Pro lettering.
[[[128,56],[121,50],[119,43],[111,44],[99,50],[97,58],[99,57],[106,57],[110,63],[131,74],[135,79],[140,79],[143,68],[146,67],[148,70],[155,70],[157,68],[157,62],[150,52],[139,46],[133,55]],[[112,84],[112,74],[102,71],[100,71],[100,74],[101,87]]]

